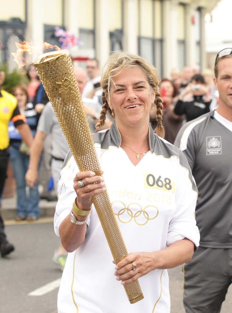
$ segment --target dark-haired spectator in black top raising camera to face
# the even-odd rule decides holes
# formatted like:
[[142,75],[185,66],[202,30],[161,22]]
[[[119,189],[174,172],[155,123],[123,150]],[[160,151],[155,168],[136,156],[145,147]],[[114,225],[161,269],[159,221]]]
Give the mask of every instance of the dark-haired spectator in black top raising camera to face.
[[210,110],[211,97],[204,77],[196,74],[178,97],[174,108],[177,115],[186,115],[186,121],[192,121]]

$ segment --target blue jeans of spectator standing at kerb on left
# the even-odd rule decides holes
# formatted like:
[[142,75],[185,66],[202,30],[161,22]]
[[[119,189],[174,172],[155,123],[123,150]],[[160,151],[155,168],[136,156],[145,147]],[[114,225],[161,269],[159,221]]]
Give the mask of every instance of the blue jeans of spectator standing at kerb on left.
[[29,194],[26,194],[26,181],[25,174],[28,170],[29,156],[21,153],[13,146],[9,147],[10,162],[13,169],[14,178],[17,188],[17,216],[26,218],[27,216],[34,216],[39,218],[39,190],[38,182],[34,184],[34,187],[29,187]]

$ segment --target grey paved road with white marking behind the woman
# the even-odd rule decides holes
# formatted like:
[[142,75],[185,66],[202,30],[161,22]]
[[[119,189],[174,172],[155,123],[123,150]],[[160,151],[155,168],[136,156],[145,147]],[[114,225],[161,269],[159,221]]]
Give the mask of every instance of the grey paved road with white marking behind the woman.
[[[59,244],[52,220],[47,218],[31,223],[6,221],[8,239],[16,250],[7,259],[0,258],[0,313],[57,313],[61,272],[51,261]],[[184,313],[182,267],[169,270],[169,276],[171,313]],[[232,286],[221,313],[231,312],[231,307]]]

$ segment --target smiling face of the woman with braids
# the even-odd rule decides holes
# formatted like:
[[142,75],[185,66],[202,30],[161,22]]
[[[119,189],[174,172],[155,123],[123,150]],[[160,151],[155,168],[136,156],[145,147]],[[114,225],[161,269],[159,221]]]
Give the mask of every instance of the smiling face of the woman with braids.
[[142,69],[133,67],[116,73],[106,100],[114,111],[117,126],[148,125],[155,89],[149,85]]

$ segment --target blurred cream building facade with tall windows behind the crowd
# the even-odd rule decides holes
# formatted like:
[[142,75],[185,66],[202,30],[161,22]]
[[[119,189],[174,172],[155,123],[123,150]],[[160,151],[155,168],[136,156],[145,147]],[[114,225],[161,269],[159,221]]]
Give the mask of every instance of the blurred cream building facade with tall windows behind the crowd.
[[160,76],[185,65],[206,67],[204,17],[219,0],[8,0],[0,12],[0,63],[15,67],[15,42],[33,44],[32,62],[42,43],[59,45],[56,26],[75,34],[82,45],[74,59],[96,57],[100,65],[111,51],[141,54]]

